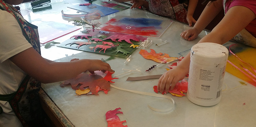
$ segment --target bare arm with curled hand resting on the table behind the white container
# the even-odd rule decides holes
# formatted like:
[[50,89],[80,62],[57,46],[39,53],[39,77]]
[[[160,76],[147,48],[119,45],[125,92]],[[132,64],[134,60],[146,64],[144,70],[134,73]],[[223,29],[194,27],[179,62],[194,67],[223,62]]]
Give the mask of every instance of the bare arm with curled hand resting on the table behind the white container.
[[[210,3],[210,2],[209,2]],[[181,37],[186,40],[194,40],[197,38],[199,33],[214,19],[217,14],[222,10],[222,0],[214,1],[210,5],[205,7],[199,19],[196,21],[196,24],[192,29],[185,30],[181,33]]]

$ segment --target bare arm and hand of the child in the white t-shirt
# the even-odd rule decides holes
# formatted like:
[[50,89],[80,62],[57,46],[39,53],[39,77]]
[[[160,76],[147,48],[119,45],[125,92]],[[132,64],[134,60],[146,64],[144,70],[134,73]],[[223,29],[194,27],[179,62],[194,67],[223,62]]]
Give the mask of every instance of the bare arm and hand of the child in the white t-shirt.
[[101,60],[81,59],[70,62],[48,62],[32,47],[9,59],[21,70],[42,83],[53,83],[71,79],[86,70],[107,70],[113,72],[109,64]]

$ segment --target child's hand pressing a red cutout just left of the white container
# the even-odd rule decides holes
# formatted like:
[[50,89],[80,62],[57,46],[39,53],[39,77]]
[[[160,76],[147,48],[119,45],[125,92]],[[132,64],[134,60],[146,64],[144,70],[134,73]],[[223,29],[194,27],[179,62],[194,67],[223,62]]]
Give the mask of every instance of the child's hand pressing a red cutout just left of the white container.
[[170,85],[172,84],[171,89],[173,89],[177,82],[184,79],[185,75],[185,70],[179,66],[168,70],[158,80],[157,91],[163,93],[165,89],[165,92],[167,93],[169,91]]

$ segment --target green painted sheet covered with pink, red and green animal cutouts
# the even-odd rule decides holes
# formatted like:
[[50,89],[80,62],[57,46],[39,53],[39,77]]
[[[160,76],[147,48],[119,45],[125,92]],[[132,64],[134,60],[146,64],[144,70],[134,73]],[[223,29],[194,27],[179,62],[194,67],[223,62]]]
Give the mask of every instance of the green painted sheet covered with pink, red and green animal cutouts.
[[100,33],[98,29],[88,29],[88,32],[71,36],[71,39],[62,42],[58,47],[126,58],[137,49],[133,48],[132,44],[138,45],[146,39],[126,33]]

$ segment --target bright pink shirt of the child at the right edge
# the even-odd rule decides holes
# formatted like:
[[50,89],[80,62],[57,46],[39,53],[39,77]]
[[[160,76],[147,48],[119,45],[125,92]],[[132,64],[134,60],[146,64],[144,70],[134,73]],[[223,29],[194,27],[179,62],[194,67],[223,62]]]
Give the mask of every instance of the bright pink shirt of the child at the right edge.
[[[225,12],[228,11],[229,8],[234,6],[244,6],[249,8],[256,14],[256,1],[255,0],[226,0],[226,8]],[[256,19],[252,20],[245,29],[252,34],[256,38]]]

